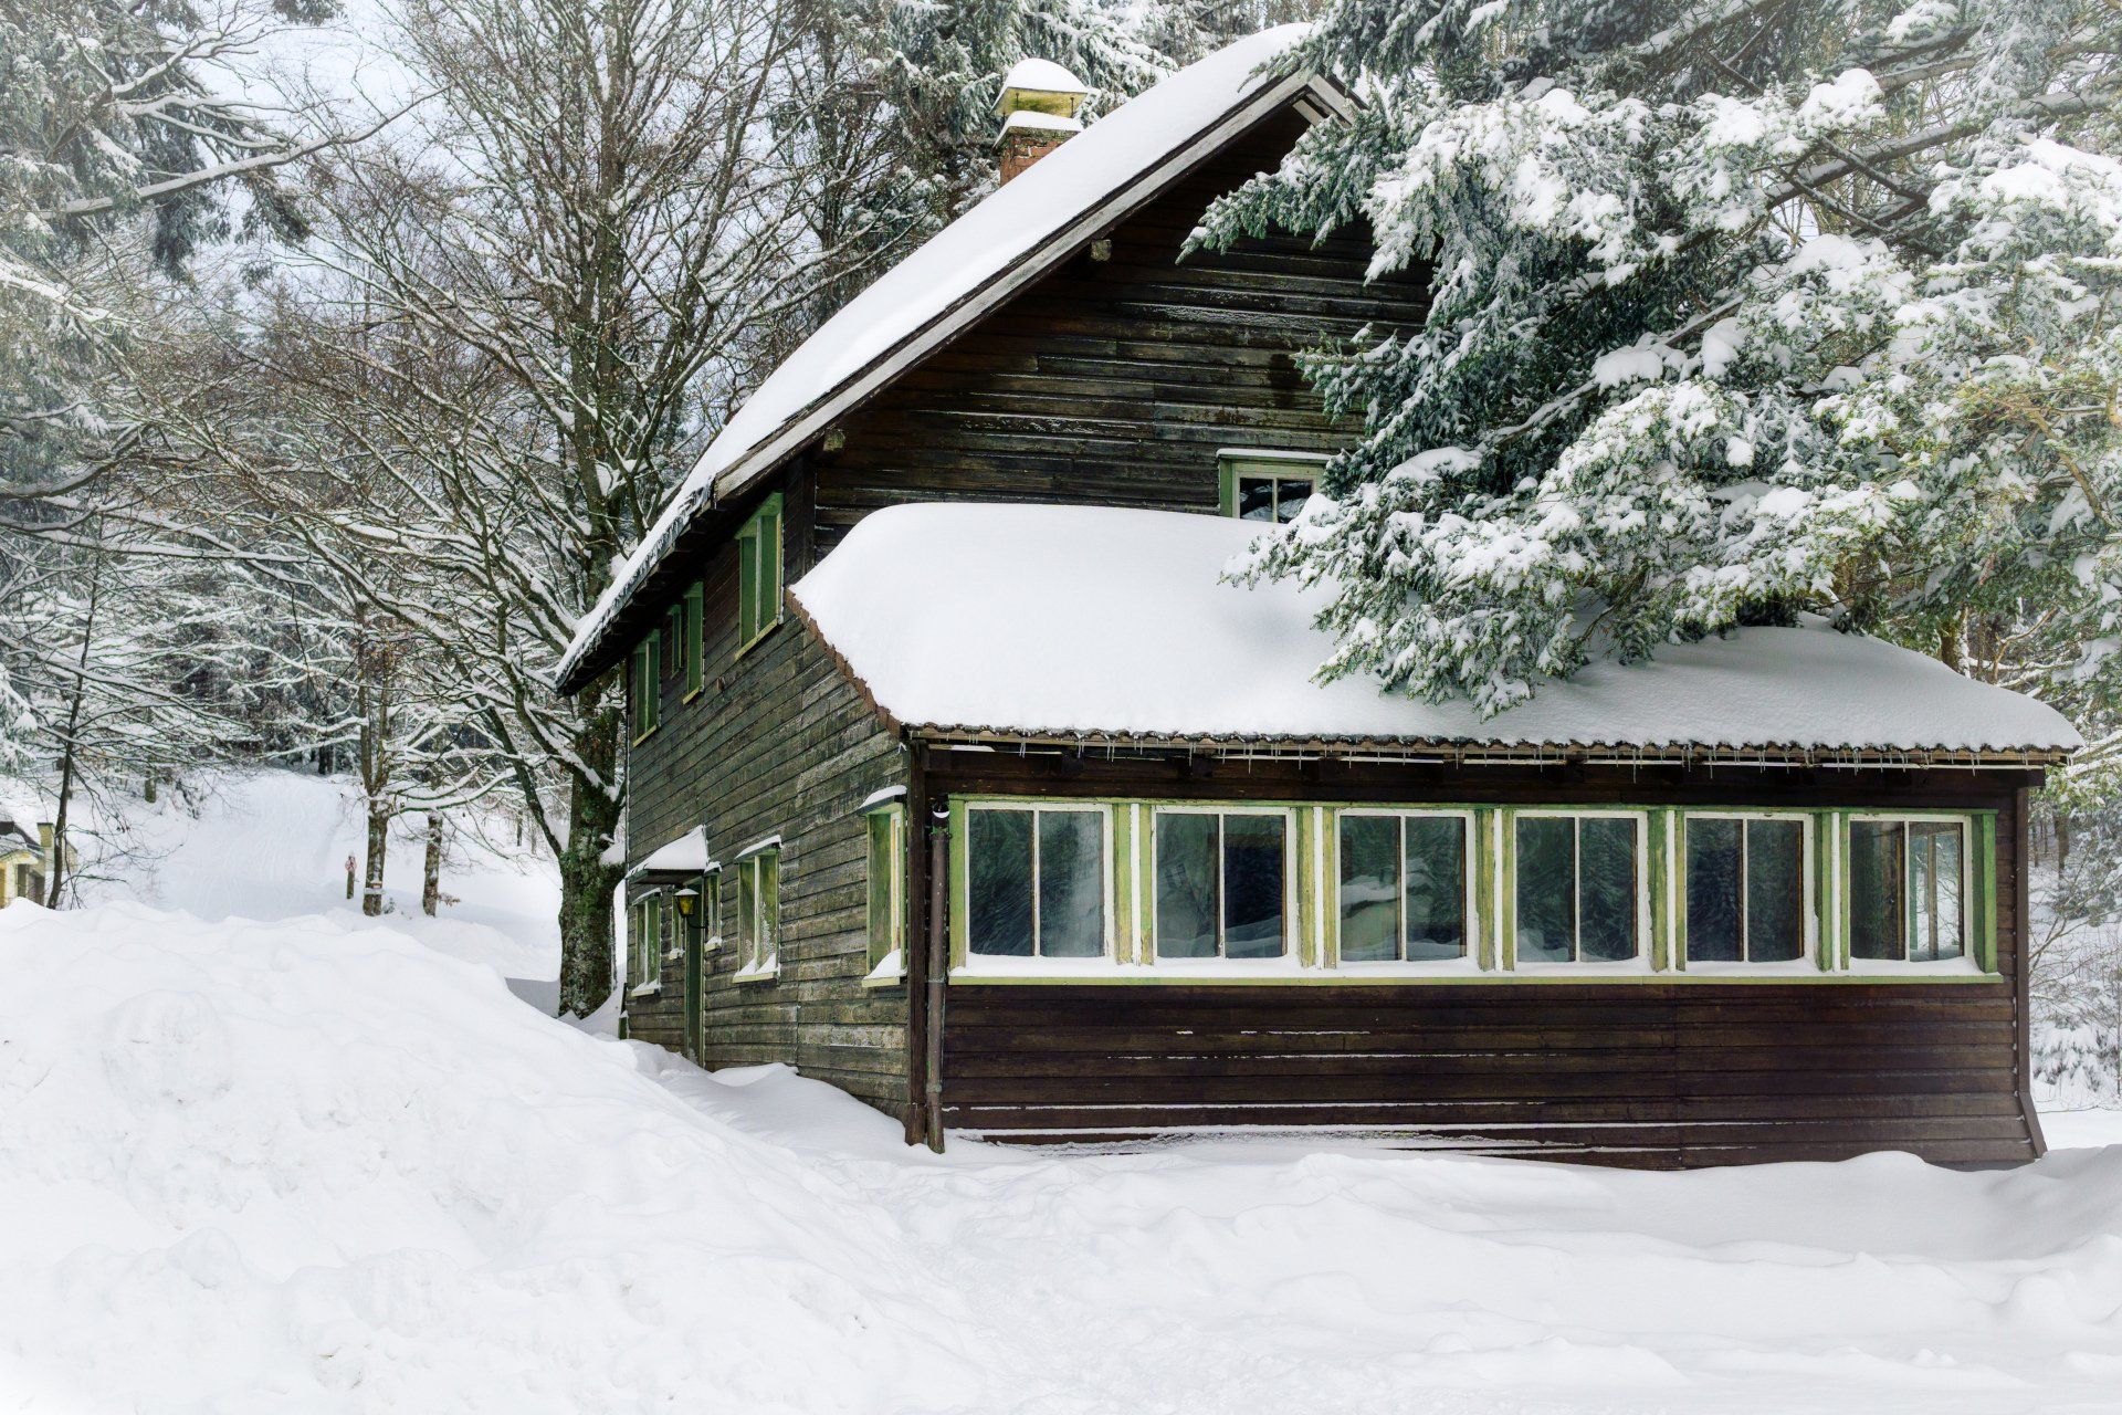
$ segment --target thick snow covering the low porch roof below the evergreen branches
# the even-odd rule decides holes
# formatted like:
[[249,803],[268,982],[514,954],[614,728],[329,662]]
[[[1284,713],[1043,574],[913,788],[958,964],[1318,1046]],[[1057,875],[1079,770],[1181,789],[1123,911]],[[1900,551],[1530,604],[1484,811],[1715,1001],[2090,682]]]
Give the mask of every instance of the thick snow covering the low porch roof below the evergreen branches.
[[[902,505],[792,590],[900,723],[927,732],[1437,747],[2052,753],[2054,709],[1831,628],[1742,628],[1598,664],[1483,721],[1318,685],[1316,590],[1239,588],[1263,526],[1114,507]],[[1273,535],[1273,532],[1269,532]]]

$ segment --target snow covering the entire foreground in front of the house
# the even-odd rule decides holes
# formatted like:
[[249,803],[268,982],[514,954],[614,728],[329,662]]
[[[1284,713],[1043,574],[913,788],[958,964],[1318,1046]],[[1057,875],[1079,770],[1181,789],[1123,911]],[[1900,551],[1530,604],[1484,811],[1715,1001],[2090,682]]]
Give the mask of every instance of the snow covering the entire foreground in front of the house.
[[393,927],[0,912],[0,1409],[2122,1409],[2122,1148],[959,1143]]

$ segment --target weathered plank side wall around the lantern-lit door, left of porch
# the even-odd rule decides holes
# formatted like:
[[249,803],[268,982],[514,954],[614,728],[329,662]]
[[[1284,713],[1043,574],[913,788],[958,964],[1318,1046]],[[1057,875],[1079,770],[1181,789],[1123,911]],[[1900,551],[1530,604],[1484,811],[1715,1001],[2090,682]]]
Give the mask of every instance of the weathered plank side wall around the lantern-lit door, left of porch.
[[[707,825],[724,866],[766,836],[783,846],[775,982],[732,980],[736,870],[724,870],[732,938],[707,955],[700,1063],[789,1063],[904,1118],[906,989],[862,984],[868,849],[855,808],[906,779],[906,753],[800,622],[783,622],[736,658],[730,543],[709,556],[705,579],[705,689],[685,702],[683,681],[666,679],[662,726],[632,751],[628,855],[641,859],[694,825]],[[628,1001],[628,1031],[683,1050],[681,961],[664,961],[658,995]]]

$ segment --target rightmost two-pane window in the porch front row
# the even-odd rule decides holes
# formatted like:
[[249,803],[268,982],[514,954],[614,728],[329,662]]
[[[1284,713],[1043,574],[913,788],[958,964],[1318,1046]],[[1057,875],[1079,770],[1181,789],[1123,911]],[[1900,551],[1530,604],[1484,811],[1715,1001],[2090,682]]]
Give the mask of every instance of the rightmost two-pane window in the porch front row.
[[1850,821],[1850,957],[1931,963],[1967,953],[1967,821]]

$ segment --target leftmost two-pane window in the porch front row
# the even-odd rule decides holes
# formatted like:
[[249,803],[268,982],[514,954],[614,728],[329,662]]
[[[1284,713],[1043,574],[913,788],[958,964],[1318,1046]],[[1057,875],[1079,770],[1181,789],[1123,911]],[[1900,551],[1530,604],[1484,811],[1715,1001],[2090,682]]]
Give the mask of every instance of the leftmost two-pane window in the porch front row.
[[966,813],[966,946],[989,957],[1106,953],[1106,817],[974,806]]

